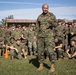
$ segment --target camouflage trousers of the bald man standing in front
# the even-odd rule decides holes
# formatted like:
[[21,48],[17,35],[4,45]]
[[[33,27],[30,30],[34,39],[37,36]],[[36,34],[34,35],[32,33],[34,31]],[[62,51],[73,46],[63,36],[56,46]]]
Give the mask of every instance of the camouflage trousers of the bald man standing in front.
[[44,61],[44,52],[48,55],[51,63],[55,63],[55,52],[54,52],[54,42],[49,38],[38,37],[37,48],[38,48],[38,59],[40,63]]

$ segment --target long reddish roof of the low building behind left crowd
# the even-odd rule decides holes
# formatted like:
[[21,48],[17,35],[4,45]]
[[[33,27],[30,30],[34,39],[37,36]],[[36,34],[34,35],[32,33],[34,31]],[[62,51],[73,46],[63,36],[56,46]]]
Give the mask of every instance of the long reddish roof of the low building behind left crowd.
[[7,23],[36,23],[36,20],[28,20],[28,19],[7,19]]

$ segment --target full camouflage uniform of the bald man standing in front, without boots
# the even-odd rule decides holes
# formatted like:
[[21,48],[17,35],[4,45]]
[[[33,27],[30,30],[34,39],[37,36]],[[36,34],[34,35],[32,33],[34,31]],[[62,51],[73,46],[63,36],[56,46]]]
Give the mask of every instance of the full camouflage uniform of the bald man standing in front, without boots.
[[[52,20],[52,23],[49,23],[48,20]],[[36,35],[38,37],[38,58],[39,62],[44,60],[44,52],[46,50],[47,55],[52,63],[55,62],[54,55],[54,34],[52,28],[57,25],[56,18],[54,14],[48,12],[46,15],[43,13],[37,19],[36,25]]]

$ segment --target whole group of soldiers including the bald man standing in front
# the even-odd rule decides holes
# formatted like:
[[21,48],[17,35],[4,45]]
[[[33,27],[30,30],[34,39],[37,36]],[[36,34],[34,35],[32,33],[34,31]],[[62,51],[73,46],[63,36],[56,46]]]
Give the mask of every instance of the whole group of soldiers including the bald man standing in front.
[[6,48],[11,59],[35,55],[40,62],[39,71],[46,56],[52,61],[50,72],[55,71],[55,59],[76,58],[76,20],[57,20],[48,8],[47,4],[42,6],[43,13],[36,24],[0,27],[0,56],[4,56]]

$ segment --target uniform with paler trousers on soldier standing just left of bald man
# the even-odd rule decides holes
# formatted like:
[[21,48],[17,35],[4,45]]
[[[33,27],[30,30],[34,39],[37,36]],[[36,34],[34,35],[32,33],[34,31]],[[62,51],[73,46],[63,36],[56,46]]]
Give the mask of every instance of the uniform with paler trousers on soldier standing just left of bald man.
[[[33,27],[33,26],[32,26]],[[37,51],[37,39],[35,38],[35,31],[32,29],[32,30],[29,30],[28,31],[28,47],[29,47],[29,52],[30,52],[30,55],[32,54],[36,54],[36,51]]]

